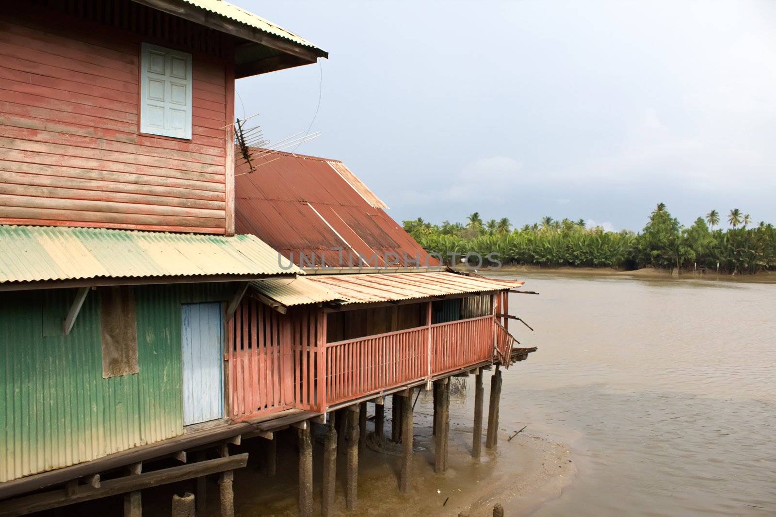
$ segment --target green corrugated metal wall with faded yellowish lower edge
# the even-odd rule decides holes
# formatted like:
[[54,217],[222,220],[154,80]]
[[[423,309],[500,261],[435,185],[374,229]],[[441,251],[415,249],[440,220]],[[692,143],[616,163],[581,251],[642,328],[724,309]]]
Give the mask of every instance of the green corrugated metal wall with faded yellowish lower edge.
[[0,297],[0,481],[94,460],[183,432],[181,312],[235,286],[134,288],[139,373],[102,378],[99,290],[70,335],[75,290]]

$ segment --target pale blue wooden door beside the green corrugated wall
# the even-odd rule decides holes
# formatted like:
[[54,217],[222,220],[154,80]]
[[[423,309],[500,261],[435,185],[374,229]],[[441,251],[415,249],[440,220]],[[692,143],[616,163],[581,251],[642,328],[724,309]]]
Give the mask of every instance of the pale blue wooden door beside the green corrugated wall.
[[183,425],[223,417],[221,304],[183,304]]

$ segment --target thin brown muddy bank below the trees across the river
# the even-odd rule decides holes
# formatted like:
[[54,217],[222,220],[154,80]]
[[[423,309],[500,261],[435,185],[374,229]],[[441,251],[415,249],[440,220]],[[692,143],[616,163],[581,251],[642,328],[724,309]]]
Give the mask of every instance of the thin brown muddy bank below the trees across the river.
[[[469,266],[459,265],[456,266],[457,271],[475,271],[475,268]],[[696,279],[696,280],[724,280],[724,281],[743,281],[743,282],[757,282],[757,283],[776,283],[776,272],[764,271],[757,272],[753,275],[729,275],[728,273],[717,273],[707,271],[702,273],[700,271],[681,271],[680,274],[672,274],[671,269],[655,269],[651,267],[632,270],[619,270],[613,268],[590,268],[590,267],[573,267],[563,265],[559,267],[548,267],[544,265],[503,265],[500,269],[491,270],[487,267],[477,268],[476,272],[480,274],[514,274],[514,273],[547,273],[547,274],[567,274],[567,275],[580,275],[580,276],[612,276],[612,277],[637,277],[637,278],[654,278],[654,279]]]

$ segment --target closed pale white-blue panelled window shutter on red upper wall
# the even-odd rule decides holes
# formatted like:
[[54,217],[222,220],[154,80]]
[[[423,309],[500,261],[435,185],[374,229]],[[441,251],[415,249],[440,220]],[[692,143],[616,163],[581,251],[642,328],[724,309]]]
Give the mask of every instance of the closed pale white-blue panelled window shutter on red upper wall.
[[192,137],[192,56],[143,43],[140,132]]

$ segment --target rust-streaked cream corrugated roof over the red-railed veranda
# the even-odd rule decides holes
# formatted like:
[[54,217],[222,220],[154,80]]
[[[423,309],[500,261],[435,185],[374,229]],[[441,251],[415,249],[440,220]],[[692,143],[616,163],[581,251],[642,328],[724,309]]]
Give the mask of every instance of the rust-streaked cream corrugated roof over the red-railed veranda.
[[260,280],[252,285],[266,297],[290,307],[334,300],[340,300],[342,304],[368,304],[445,294],[482,293],[514,289],[522,286],[523,282],[453,272],[407,272],[312,275],[293,281]]

